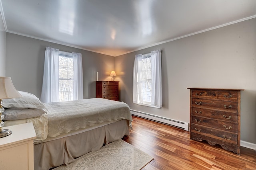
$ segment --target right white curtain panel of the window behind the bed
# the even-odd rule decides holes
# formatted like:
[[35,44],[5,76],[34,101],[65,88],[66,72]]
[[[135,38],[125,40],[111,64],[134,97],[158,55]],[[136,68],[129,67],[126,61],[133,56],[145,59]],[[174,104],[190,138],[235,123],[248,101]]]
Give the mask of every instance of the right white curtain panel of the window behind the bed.
[[82,54],[72,53],[72,56],[73,56],[73,63],[74,63],[73,100],[80,100],[84,98]]

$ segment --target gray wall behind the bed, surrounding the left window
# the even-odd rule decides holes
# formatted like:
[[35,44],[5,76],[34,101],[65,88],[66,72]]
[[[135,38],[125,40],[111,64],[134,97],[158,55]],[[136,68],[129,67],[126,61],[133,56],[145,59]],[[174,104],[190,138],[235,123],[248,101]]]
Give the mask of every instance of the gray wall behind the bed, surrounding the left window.
[[40,98],[46,47],[82,53],[84,98],[95,98],[96,72],[98,80],[111,79],[109,75],[114,70],[112,56],[6,33],[6,76],[12,77],[17,90],[30,92]]

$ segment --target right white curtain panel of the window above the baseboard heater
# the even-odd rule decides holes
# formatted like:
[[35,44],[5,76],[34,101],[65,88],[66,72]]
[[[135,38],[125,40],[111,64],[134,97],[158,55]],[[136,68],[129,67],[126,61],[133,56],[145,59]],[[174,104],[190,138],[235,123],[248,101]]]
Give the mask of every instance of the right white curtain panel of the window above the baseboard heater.
[[161,50],[151,51],[152,92],[151,106],[162,107]]

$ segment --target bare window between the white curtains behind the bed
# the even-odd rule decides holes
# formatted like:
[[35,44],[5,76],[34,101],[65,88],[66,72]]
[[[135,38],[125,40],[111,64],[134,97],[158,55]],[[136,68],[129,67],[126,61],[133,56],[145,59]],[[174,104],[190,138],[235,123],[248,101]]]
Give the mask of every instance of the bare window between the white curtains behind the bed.
[[73,100],[74,64],[72,53],[59,52],[59,101]]

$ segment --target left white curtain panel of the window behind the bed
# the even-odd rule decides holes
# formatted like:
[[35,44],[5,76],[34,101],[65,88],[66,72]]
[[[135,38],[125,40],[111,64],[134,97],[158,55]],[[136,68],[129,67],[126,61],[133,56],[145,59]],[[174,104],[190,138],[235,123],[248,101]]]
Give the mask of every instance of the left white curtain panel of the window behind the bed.
[[44,103],[59,101],[59,49],[46,47],[40,100]]

